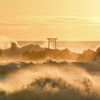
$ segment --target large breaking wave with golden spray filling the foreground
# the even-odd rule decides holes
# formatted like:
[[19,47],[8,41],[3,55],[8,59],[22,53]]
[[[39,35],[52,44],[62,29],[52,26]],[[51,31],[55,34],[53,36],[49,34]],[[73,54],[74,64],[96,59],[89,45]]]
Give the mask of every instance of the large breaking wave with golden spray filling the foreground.
[[[68,62],[1,64],[0,100],[99,100],[99,79]],[[26,66],[25,66],[26,65]],[[15,68],[14,68],[15,67]],[[0,71],[1,71],[0,70]]]

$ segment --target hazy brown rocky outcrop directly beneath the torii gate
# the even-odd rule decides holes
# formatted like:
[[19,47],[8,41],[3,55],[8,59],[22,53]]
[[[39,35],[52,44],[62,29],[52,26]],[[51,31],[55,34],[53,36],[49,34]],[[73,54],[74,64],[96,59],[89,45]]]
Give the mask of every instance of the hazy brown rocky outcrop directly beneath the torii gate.
[[79,53],[71,52],[69,49],[45,49],[44,51],[26,51],[22,55],[22,61],[43,61],[47,59],[53,60],[76,60]]

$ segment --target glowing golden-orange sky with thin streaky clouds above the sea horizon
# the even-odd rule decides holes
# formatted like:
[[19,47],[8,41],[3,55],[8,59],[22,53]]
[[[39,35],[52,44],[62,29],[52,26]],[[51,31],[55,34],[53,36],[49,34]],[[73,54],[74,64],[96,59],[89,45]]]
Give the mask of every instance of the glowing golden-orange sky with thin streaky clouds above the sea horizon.
[[100,40],[100,0],[0,0],[0,35],[15,40]]

